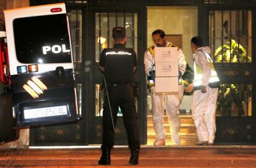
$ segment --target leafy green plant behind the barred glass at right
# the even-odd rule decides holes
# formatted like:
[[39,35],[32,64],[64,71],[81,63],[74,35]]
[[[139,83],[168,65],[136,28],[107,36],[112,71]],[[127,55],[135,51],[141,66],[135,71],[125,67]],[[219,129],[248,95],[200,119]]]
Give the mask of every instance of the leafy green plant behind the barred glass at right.
[[[251,62],[247,52],[234,39],[219,46],[214,54],[215,62]],[[218,91],[217,114],[222,116],[242,116],[246,113],[246,100],[252,96],[252,89],[245,84],[221,84]]]

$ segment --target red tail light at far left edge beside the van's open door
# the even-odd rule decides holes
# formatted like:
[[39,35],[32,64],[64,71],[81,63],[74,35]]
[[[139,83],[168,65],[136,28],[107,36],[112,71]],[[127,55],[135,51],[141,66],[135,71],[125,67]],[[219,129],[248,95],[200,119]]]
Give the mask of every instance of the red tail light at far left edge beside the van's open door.
[[0,41],[0,73],[1,81],[4,84],[11,85],[9,73],[8,49],[4,41]]

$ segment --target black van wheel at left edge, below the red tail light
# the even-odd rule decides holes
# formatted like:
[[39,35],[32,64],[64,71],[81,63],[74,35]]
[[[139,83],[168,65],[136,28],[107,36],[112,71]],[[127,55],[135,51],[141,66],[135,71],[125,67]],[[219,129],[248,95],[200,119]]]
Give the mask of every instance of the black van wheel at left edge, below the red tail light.
[[0,143],[17,139],[17,130],[13,129],[14,126],[12,97],[10,94],[2,94],[0,95]]

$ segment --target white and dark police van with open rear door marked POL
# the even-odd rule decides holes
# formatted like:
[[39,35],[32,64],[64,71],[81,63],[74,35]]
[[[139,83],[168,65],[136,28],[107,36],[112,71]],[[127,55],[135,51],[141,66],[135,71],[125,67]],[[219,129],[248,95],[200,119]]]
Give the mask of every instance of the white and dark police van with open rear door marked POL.
[[77,121],[65,4],[4,10],[4,17],[7,45],[1,43],[1,81],[11,90],[15,126]]

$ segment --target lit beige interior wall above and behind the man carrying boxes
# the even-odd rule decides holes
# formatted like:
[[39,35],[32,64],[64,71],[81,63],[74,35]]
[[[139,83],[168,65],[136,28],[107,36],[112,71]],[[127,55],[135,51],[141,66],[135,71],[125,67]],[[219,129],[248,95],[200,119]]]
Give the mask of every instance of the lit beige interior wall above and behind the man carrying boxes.
[[190,39],[198,34],[197,7],[147,7],[147,46],[153,45],[151,33],[161,29],[165,34],[181,34],[182,50],[193,68]]

